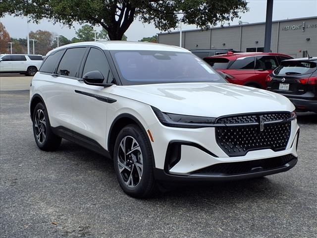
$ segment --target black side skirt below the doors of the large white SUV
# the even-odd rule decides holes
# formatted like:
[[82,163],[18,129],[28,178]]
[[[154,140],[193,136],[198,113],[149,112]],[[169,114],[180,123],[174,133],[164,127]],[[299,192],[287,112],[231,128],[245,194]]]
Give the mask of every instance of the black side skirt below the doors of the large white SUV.
[[77,133],[73,130],[70,130],[64,126],[51,127],[53,133],[58,135],[66,140],[74,142],[80,146],[83,146],[89,150],[95,151],[98,154],[111,158],[109,151],[104,149],[97,141]]

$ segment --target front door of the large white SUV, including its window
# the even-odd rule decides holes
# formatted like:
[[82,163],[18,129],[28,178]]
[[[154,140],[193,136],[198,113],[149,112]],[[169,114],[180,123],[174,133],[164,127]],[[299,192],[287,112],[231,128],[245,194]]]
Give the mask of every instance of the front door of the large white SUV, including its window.
[[[99,49],[91,48],[85,65],[82,66],[83,75],[91,71],[100,71],[106,81],[110,74],[105,53]],[[75,92],[76,90],[76,92]],[[94,95],[108,97],[111,87],[87,85],[76,80],[73,85],[73,119],[72,130],[96,140],[106,148],[106,113],[108,103]],[[78,93],[81,92],[81,93]]]

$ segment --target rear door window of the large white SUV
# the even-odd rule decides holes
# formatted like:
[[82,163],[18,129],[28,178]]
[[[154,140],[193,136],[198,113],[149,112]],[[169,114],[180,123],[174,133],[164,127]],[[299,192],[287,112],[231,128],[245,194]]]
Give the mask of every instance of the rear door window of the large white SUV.
[[67,49],[59,62],[57,74],[76,77],[85,52],[86,48]]

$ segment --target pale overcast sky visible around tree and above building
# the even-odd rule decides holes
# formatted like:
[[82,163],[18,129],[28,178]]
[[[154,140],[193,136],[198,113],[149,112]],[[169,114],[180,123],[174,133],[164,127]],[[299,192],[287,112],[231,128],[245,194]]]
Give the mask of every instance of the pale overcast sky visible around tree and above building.
[[[238,24],[239,20],[243,22],[256,23],[265,21],[266,0],[249,0],[248,7],[250,10],[240,14],[241,19],[235,19],[230,22],[230,25]],[[274,0],[273,3],[273,21],[284,20],[291,18],[317,16],[317,0]],[[5,26],[6,30],[12,38],[26,38],[27,35],[27,18],[14,17],[6,15],[0,18],[0,22]],[[226,25],[226,24],[224,24]],[[60,24],[53,24],[48,19],[44,19],[40,24],[29,23],[29,30],[48,30],[56,35],[63,35],[68,39],[76,36],[75,30],[81,25],[75,23],[73,28],[68,28]],[[195,25],[182,25],[183,30],[196,29]],[[100,31],[101,27],[94,28]],[[175,31],[179,29],[171,29]],[[151,37],[160,31],[153,24],[143,24],[136,19],[127,30],[125,35],[129,41],[138,41],[143,37]]]

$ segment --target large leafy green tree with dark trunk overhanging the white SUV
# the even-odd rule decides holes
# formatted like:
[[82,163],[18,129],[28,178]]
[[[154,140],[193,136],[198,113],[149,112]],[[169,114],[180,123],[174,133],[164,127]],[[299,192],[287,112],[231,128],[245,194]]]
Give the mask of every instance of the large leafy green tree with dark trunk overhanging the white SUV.
[[28,15],[34,22],[49,18],[68,26],[100,25],[110,40],[121,40],[136,18],[153,22],[160,31],[176,28],[179,21],[208,29],[247,10],[247,0],[2,0],[0,17],[7,13]]

